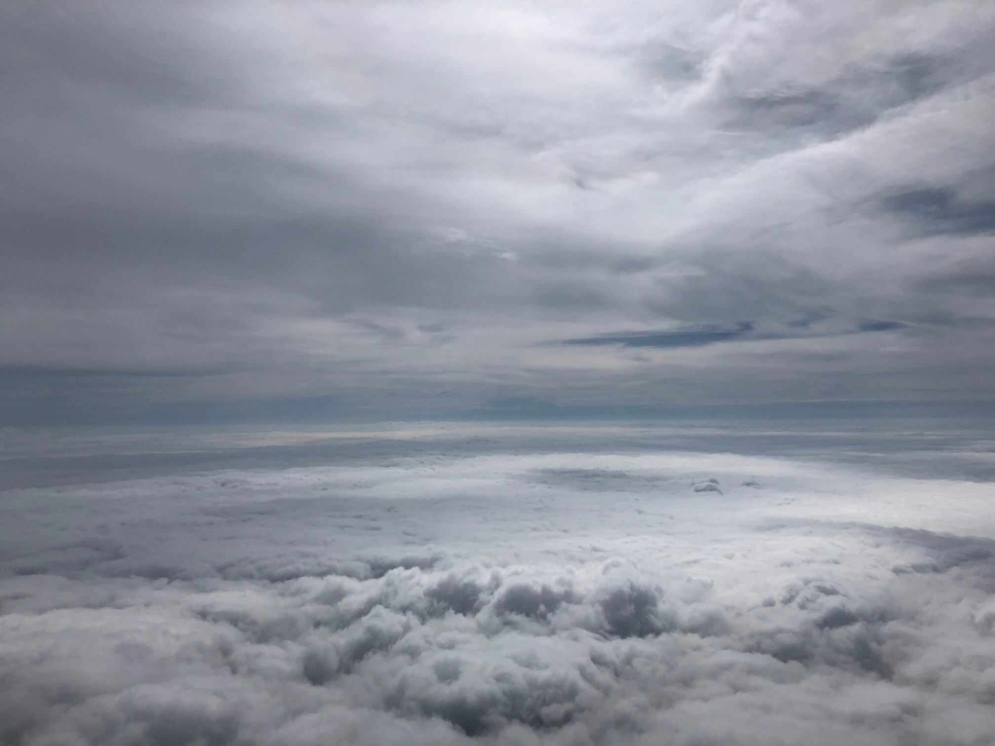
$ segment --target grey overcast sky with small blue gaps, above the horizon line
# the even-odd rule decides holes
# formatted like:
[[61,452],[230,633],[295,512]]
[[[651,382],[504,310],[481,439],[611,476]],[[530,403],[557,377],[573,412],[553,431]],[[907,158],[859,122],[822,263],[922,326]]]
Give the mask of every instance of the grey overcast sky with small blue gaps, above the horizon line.
[[987,0],[7,0],[0,417],[991,400],[993,36]]

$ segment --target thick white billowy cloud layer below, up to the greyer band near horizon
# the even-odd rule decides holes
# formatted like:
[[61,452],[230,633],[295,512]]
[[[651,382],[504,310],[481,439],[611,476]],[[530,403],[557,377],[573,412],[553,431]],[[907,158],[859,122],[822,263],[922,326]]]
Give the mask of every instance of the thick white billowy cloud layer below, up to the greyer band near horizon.
[[995,742],[991,482],[590,436],[4,491],[0,739]]

